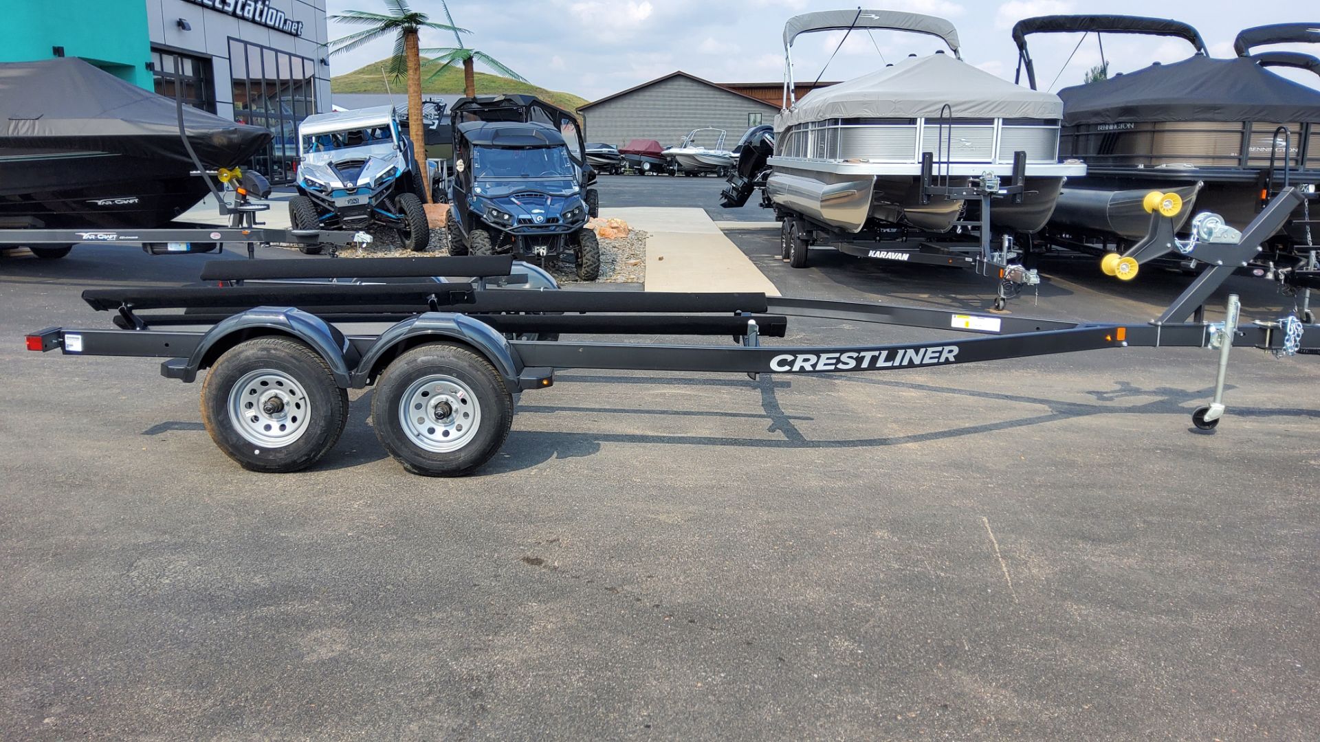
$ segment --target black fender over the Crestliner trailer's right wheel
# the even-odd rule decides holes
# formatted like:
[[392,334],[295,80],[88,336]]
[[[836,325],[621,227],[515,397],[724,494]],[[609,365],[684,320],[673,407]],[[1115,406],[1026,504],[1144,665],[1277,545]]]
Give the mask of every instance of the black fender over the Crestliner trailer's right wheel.
[[449,312],[426,312],[409,317],[381,333],[354,370],[352,387],[366,387],[399,353],[425,342],[445,339],[457,341],[484,356],[495,366],[510,391],[519,391],[523,363],[504,335],[484,322]]

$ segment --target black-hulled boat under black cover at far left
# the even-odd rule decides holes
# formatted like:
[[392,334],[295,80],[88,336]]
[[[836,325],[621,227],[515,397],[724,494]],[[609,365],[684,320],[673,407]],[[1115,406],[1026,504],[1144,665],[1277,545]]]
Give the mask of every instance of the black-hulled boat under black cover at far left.
[[271,141],[82,59],[0,65],[0,226],[162,227],[209,193],[205,168],[247,162]]

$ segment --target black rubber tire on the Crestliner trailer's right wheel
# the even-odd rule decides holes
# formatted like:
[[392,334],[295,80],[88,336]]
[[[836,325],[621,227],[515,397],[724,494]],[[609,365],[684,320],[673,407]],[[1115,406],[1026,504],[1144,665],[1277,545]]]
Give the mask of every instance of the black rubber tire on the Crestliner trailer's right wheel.
[[[449,452],[418,445],[400,419],[404,395],[425,379],[441,378],[467,387],[479,409],[477,429],[467,432],[469,438],[461,448]],[[417,415],[412,407],[409,415]],[[465,408],[455,405],[455,409]],[[429,411],[424,407],[421,412]],[[429,424],[428,417],[421,419]],[[404,353],[385,367],[371,397],[371,422],[380,445],[408,471],[424,477],[462,477],[490,461],[504,445],[513,424],[513,396],[486,358],[465,347],[428,343]],[[412,422],[414,420],[407,424]],[[418,429],[425,429],[425,424],[413,428],[414,433]]]

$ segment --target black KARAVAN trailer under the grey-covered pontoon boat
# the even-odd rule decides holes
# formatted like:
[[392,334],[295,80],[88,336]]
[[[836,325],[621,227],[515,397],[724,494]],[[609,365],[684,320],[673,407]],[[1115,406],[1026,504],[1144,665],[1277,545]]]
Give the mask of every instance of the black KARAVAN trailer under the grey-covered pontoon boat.
[[1014,203],[1020,203],[1026,194],[1027,153],[1014,153],[1012,176],[1007,184],[998,176],[986,173],[969,178],[966,185],[952,185],[946,172],[948,161],[944,160],[936,166],[936,154],[925,152],[921,156],[921,203],[927,205],[936,197],[973,201],[979,205],[978,219],[958,219],[953,223],[952,234],[878,223],[867,224],[861,232],[845,232],[772,202],[763,187],[762,206],[774,209],[775,218],[783,223],[780,257],[793,268],[805,268],[810,247],[828,246],[854,257],[966,268],[977,276],[994,281],[993,308],[1003,310],[1008,300],[1022,293],[1024,287],[1040,284],[1036,271],[1018,261],[1020,252],[1014,248],[1012,239],[1005,235],[997,244],[990,228],[994,199],[1008,198]]

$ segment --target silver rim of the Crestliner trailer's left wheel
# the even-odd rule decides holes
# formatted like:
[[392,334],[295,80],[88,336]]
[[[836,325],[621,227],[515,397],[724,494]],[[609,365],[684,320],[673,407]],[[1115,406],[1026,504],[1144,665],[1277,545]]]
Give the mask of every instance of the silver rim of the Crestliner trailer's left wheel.
[[246,374],[230,387],[230,424],[249,444],[288,446],[308,432],[312,404],[293,376],[273,368]]

